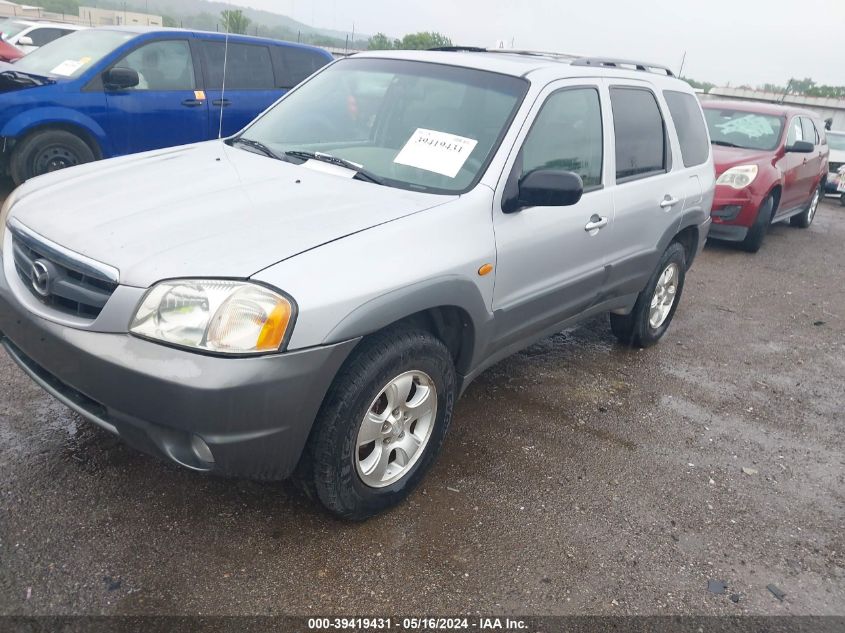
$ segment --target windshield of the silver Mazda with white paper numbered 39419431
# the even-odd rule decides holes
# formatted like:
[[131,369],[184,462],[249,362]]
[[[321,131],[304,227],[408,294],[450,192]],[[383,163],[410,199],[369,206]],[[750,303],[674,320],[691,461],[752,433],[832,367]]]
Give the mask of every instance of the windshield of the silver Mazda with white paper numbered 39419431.
[[290,93],[243,137],[280,156],[342,158],[389,186],[460,193],[481,177],[527,88],[524,79],[469,68],[346,59]]

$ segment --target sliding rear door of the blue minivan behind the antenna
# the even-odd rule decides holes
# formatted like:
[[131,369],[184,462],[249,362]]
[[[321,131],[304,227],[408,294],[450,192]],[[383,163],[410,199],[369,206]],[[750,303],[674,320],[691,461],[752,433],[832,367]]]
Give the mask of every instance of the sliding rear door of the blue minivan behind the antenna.
[[212,138],[243,129],[284,94],[276,85],[269,45],[230,41],[227,46],[224,40],[200,40],[200,48]]

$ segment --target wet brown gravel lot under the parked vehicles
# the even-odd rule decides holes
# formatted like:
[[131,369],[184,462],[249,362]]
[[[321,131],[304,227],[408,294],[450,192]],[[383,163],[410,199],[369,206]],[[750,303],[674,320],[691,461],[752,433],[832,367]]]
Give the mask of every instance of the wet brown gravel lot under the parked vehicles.
[[365,524],[138,454],[0,353],[0,614],[845,615],[844,246],[827,203],[708,246],[656,348],[598,319],[503,361]]

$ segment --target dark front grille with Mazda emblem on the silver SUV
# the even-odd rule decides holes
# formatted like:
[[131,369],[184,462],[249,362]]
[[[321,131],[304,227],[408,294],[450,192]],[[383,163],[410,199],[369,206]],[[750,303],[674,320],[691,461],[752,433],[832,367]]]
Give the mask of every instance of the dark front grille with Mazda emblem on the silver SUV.
[[[69,257],[57,256],[54,249],[39,245],[31,236],[13,234],[15,268],[33,297],[63,314],[84,319],[99,316],[117,283],[83,262],[75,265]],[[45,275],[46,282],[36,281],[36,268]]]

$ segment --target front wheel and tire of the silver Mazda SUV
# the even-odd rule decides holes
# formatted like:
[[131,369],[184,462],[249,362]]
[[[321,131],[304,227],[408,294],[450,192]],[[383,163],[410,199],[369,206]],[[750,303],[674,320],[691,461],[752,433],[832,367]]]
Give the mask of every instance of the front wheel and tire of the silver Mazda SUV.
[[[401,394],[409,376],[414,385],[406,391],[409,395],[391,402],[384,390],[397,384]],[[456,384],[449,350],[428,332],[391,329],[365,339],[323,402],[297,469],[300,484],[329,512],[354,521],[400,503],[440,452],[452,419]],[[394,409],[396,403],[399,407]],[[417,403],[420,409],[428,403],[434,410],[416,420],[396,418],[393,414],[399,408],[406,412],[406,403]],[[371,413],[381,422],[367,430],[374,429],[381,439],[363,444],[365,416]],[[413,417],[410,409],[407,413]],[[385,430],[387,426],[391,428]],[[420,448],[413,455],[410,449],[406,453],[415,438]],[[382,465],[386,465],[383,472]]]

